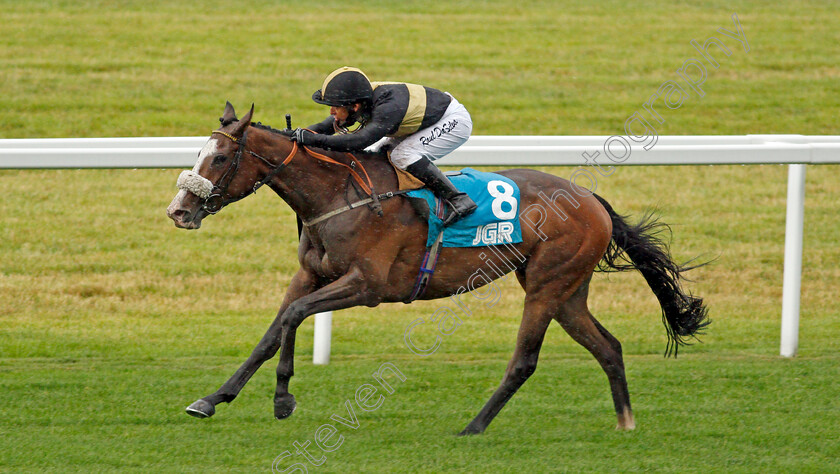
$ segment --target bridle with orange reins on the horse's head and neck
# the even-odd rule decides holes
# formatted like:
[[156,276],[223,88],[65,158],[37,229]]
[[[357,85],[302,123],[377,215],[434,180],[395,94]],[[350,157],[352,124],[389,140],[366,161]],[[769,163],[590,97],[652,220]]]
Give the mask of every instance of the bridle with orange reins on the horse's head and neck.
[[[222,135],[224,137],[227,137],[228,139],[230,139],[231,141],[233,141],[234,143],[239,145],[239,147],[237,148],[236,153],[233,155],[233,160],[231,160],[231,162],[228,165],[227,169],[225,170],[224,174],[219,179],[219,181],[216,184],[213,185],[213,189],[210,191],[210,194],[204,199],[204,203],[202,203],[202,205],[201,205],[201,209],[204,210],[204,212],[206,212],[207,214],[216,214],[223,207],[227,206],[228,204],[239,201],[241,199],[244,199],[244,198],[250,196],[251,194],[256,193],[257,189],[261,188],[263,185],[267,184],[275,176],[277,176],[277,174],[280,173],[280,171],[282,171],[292,161],[292,159],[295,157],[295,155],[298,152],[298,143],[296,141],[292,141],[292,150],[289,152],[289,155],[286,156],[286,158],[279,165],[275,165],[274,163],[269,161],[267,158],[265,158],[263,156],[260,156],[259,154],[254,153],[251,150],[246,149],[246,143],[247,143],[247,140],[248,140],[248,138],[247,138],[248,137],[248,130],[247,129],[242,134],[242,138],[236,138],[233,135],[231,135],[227,132],[223,132],[221,130],[213,130],[212,132],[210,132],[211,136],[213,134],[218,134],[218,135]],[[306,146],[301,146],[300,148],[305,153],[307,153],[308,155],[310,155],[310,156],[312,156],[312,157],[314,157],[314,158],[316,158],[320,161],[325,161],[327,163],[336,164],[336,165],[342,166],[344,168],[347,168],[347,170],[350,172],[350,176],[353,178],[353,180],[362,188],[362,190],[365,193],[367,193],[370,196],[370,202],[372,202],[374,212],[376,212],[380,216],[382,215],[382,207],[379,204],[379,195],[373,189],[373,182],[371,181],[370,176],[367,174],[367,170],[365,170],[364,166],[362,166],[361,162],[359,162],[358,159],[356,159],[355,156],[353,156],[351,153],[347,153],[352,158],[352,161],[350,162],[350,165],[346,165],[346,164],[344,164],[340,161],[336,161],[336,160],[334,160],[334,159],[332,159],[332,158],[330,158],[326,155],[322,155],[321,153],[317,153],[317,152],[307,148]],[[262,161],[266,166],[268,166],[270,171],[265,175],[265,177],[263,179],[254,183],[253,188],[251,188],[250,190],[248,190],[247,192],[245,192],[241,196],[236,197],[236,198],[229,197],[227,200],[225,200],[224,196],[227,194],[228,187],[230,186],[230,183],[233,181],[234,176],[236,176],[236,173],[239,171],[239,166],[242,162],[243,152],[248,153],[249,155],[259,159],[260,161]],[[356,166],[357,165],[358,165],[358,168],[364,174],[364,178],[362,178],[362,176],[356,171]]]

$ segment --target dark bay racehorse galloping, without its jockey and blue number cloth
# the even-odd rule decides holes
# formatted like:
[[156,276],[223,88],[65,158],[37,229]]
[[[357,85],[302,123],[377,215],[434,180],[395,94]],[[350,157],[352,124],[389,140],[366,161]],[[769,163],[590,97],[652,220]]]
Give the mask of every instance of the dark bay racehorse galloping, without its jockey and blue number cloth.
[[[193,170],[182,173],[185,182],[179,178],[181,190],[166,212],[177,227],[197,229],[207,215],[267,185],[305,224],[298,248],[300,268],[277,316],[248,359],[216,392],[187,408],[187,413],[199,418],[212,416],[216,405],[236,398],[256,370],[280,349],[274,416],[291,415],[296,401],[288,388],[294,374],[295,333],[301,322],[324,311],[406,302],[426,251],[428,224],[410,200],[398,196],[380,203],[375,199],[375,190],[398,189],[397,175],[383,155],[353,156],[298,146],[279,130],[252,123],[253,113],[252,105],[240,120],[233,106],[226,104],[219,119],[222,126],[211,133]],[[539,225],[523,225],[521,243],[498,247],[505,258],[518,264],[512,271],[525,290],[522,322],[501,384],[460,434],[484,432],[534,373],[552,320],[589,350],[606,373],[618,417],[616,428],[635,428],[621,344],[589,312],[590,280],[596,269],[641,272],[662,308],[666,355],[676,355],[679,346],[709,324],[702,299],[681,288],[682,273],[694,267],[672,260],[667,244],[657,237],[665,225],[655,219],[630,225],[600,196],[547,173],[514,169],[499,174],[516,182],[521,192],[519,209],[536,210],[527,217]],[[186,183],[190,180],[191,184]],[[364,193],[373,195],[367,201],[373,202],[349,208],[346,193],[365,188],[365,183],[370,189]],[[552,196],[551,202],[546,196]],[[543,211],[553,207],[554,212],[538,207]],[[381,210],[381,216],[372,208]],[[484,250],[443,248],[422,299],[455,295],[459,288],[463,291],[470,275],[486,263]]]

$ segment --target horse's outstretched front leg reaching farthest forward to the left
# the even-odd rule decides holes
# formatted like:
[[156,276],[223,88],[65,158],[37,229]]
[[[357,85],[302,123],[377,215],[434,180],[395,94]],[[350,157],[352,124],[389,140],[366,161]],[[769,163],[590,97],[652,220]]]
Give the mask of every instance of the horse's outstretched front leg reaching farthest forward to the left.
[[280,310],[277,316],[269,326],[268,331],[262,337],[257,347],[251,352],[248,360],[242,364],[241,367],[228,379],[215,393],[204,398],[196,400],[192,405],[187,407],[187,413],[197,418],[207,418],[216,413],[216,405],[221,402],[230,403],[239,395],[242,387],[248,383],[251,376],[260,368],[260,366],[267,360],[274,357],[277,349],[280,348],[280,333],[281,333],[281,319],[286,310],[300,297],[311,293],[315,289],[315,277],[304,269],[298,270],[292,281],[289,284],[289,289],[286,291],[286,296],[283,298],[283,304],[280,305]]

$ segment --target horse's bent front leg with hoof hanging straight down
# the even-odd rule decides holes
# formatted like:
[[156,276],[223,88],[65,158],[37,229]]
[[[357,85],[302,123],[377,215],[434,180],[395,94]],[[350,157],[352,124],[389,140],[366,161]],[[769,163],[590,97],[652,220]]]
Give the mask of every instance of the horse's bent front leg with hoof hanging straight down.
[[293,302],[280,318],[283,328],[280,362],[277,364],[277,389],[274,392],[274,417],[288,417],[297,406],[289,393],[289,379],[294,375],[295,333],[304,319],[315,313],[352,308],[370,303],[365,294],[365,279],[353,269],[338,280]]

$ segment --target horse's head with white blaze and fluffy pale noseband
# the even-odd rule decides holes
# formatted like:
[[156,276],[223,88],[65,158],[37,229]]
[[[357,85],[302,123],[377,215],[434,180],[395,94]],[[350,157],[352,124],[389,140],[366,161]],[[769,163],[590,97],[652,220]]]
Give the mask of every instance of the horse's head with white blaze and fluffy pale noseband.
[[208,214],[253,192],[256,171],[242,166],[246,131],[253,114],[251,105],[251,110],[239,120],[230,102],[225,105],[219,119],[222,126],[210,134],[193,169],[178,177],[178,194],[166,208],[166,215],[177,227],[198,229]]

